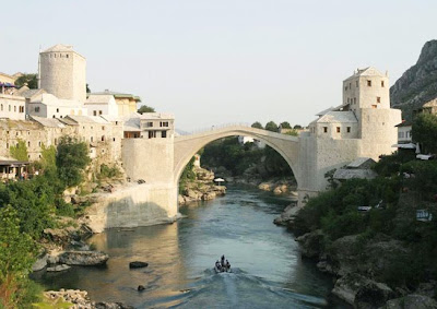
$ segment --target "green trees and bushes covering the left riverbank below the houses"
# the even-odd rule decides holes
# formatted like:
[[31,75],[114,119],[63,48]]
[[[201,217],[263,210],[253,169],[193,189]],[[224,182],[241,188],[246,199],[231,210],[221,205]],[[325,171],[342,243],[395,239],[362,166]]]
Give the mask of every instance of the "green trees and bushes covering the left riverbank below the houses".
[[[42,159],[33,163],[31,169],[40,170],[38,176],[0,183],[0,308],[31,308],[43,301],[43,287],[28,274],[37,255],[54,241],[44,230],[76,225],[74,218],[87,205],[63,200],[67,188],[83,183],[91,163],[87,153],[85,143],[64,136],[57,148],[44,147]],[[12,155],[27,157],[25,145],[19,143]],[[109,167],[102,171],[115,174]]]

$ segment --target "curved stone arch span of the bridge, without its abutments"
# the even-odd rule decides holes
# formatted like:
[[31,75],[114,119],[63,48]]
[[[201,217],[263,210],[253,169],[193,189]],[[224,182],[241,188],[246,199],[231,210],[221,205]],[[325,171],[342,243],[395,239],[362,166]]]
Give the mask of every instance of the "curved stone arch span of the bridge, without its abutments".
[[174,183],[178,186],[179,178],[192,156],[202,147],[216,140],[228,136],[251,136],[264,142],[275,150],[288,164],[292,169],[297,186],[299,186],[300,175],[298,173],[298,147],[299,139],[296,136],[280,134],[262,129],[250,127],[232,126],[220,129],[212,129],[202,133],[181,135],[175,138],[174,143]]

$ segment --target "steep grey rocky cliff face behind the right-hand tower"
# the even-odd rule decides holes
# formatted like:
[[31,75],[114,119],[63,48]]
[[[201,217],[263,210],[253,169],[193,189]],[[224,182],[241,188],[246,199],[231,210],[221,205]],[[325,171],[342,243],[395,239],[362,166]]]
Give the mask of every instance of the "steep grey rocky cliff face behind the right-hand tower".
[[390,88],[391,107],[411,120],[413,110],[437,97],[437,40],[427,41],[417,63],[406,70]]

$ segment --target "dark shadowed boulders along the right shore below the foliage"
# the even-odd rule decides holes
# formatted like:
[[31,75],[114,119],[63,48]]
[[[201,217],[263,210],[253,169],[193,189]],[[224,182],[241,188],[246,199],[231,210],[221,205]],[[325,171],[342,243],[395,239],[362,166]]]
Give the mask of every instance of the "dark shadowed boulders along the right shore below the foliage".
[[321,272],[334,277],[332,294],[354,308],[437,308],[435,281],[421,283],[415,288],[408,284],[390,287],[382,282],[382,274],[388,275],[395,259],[409,253],[400,241],[378,235],[371,242],[366,242],[352,235],[324,248],[324,235],[320,229],[302,235],[296,241],[300,245],[303,258],[315,260]]

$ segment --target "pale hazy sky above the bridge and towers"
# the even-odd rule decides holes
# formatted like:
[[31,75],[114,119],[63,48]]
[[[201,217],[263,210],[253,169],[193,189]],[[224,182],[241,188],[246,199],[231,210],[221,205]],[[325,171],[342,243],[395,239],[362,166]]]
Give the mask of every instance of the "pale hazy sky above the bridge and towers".
[[[4,1],[4,0],[2,0]],[[437,38],[437,1],[9,1],[0,72],[36,72],[39,46],[73,45],[93,92],[141,96],[176,127],[308,124],[356,68],[391,84]]]

